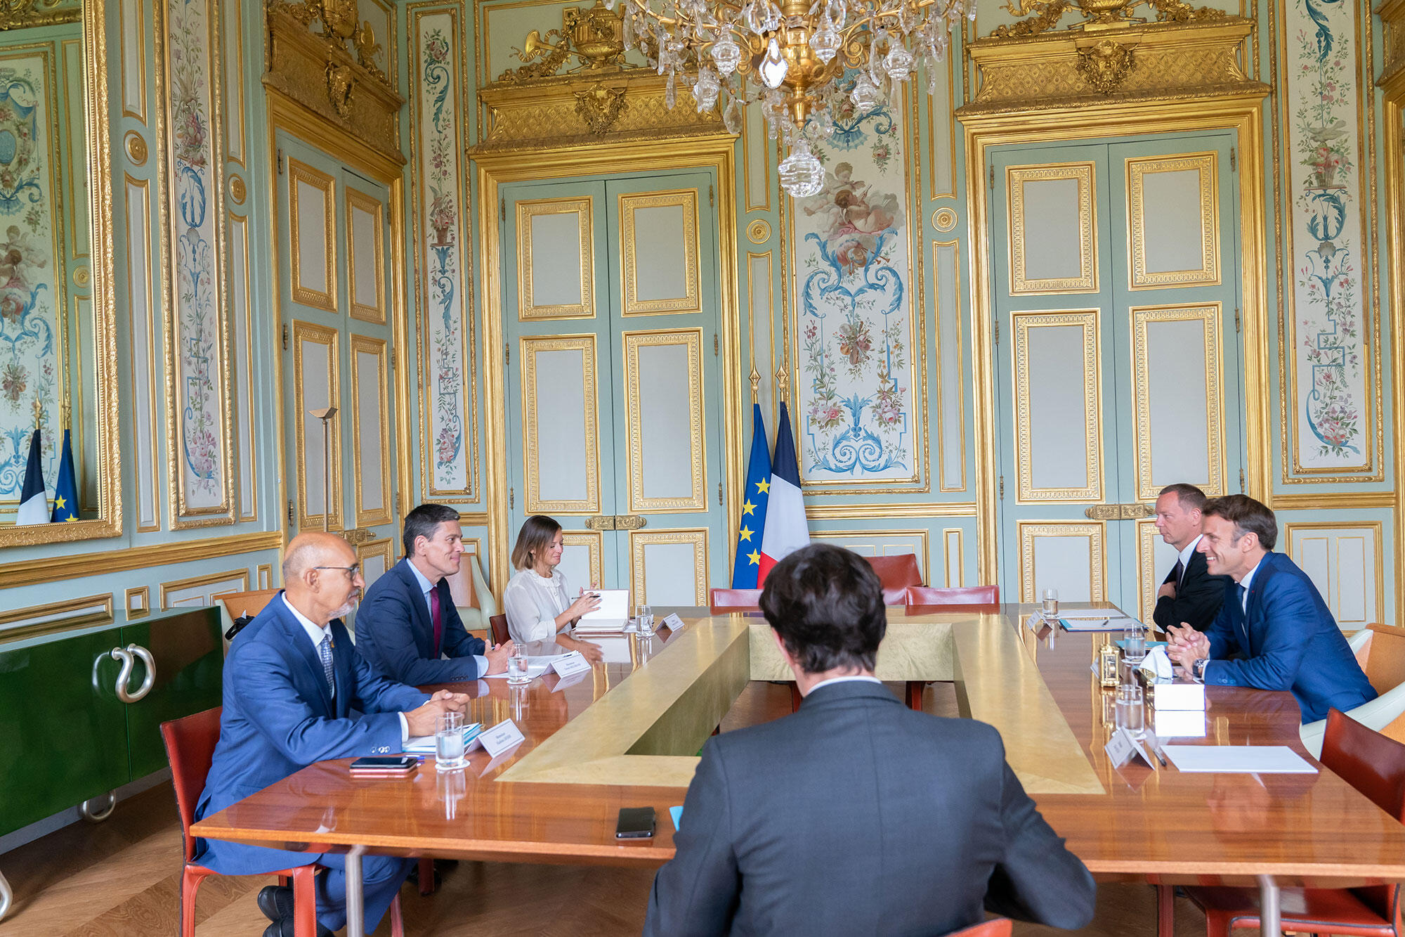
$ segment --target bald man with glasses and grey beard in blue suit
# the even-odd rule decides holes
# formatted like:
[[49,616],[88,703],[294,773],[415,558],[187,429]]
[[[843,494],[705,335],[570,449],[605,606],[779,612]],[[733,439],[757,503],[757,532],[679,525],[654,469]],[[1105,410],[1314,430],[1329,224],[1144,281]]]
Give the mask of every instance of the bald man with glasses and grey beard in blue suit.
[[[365,663],[341,616],[365,585],[355,552],[330,533],[301,533],[282,560],[284,591],[235,637],[225,660],[219,744],[195,819],[223,810],[299,768],[327,758],[399,754],[409,736],[434,732],[434,718],[462,712],[466,696],[434,696],[391,682]],[[353,715],[364,713],[364,715]],[[344,857],[201,840],[201,865],[259,875],[320,862],[318,934],[346,924]],[[365,927],[391,906],[414,860],[368,855]],[[259,907],[273,922],[264,937],[292,937],[292,889],[270,885]]]

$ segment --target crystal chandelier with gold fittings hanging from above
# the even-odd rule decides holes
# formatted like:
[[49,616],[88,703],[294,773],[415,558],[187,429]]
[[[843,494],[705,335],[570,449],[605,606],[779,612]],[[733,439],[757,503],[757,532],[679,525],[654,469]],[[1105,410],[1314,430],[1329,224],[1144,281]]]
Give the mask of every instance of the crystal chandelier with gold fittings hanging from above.
[[669,76],[670,108],[681,82],[698,111],[721,104],[722,122],[738,134],[742,106],[760,106],[769,135],[788,149],[781,189],[805,197],[825,184],[811,146],[833,132],[846,66],[857,70],[844,90],[858,117],[888,100],[919,62],[934,84],[948,32],[968,6],[974,18],[971,0],[624,0],[624,45]]

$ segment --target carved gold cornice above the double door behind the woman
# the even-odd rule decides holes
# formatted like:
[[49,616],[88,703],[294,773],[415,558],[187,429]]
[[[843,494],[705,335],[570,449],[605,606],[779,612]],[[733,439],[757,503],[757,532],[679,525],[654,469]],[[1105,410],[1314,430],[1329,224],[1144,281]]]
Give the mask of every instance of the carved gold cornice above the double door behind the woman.
[[495,82],[478,91],[489,128],[469,155],[726,134],[721,114],[698,114],[686,93],[669,110],[666,84],[652,69]]

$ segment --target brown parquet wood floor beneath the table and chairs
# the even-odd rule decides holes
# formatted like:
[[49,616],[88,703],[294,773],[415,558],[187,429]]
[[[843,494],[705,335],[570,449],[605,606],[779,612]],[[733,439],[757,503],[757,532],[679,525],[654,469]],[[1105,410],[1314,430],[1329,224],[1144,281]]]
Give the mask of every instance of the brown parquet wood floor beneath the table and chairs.
[[[894,685],[895,692],[902,691]],[[926,708],[954,715],[950,685],[927,689]],[[722,730],[774,719],[790,710],[790,688],[750,684]],[[662,822],[667,822],[666,819]],[[178,926],[180,824],[170,785],[118,805],[105,823],[79,823],[0,855],[15,892],[3,937],[136,937],[174,934]],[[198,937],[259,937],[267,922],[254,905],[270,878],[214,877],[197,902]],[[575,865],[461,862],[444,871],[437,893],[400,892],[406,933],[414,937],[544,934],[593,937],[636,934],[643,924],[653,872]],[[1155,896],[1146,885],[1099,888],[1097,919],[1087,937],[1155,934]],[[377,930],[391,933],[389,923]],[[1064,934],[1016,924],[1020,937]],[[1177,937],[1204,933],[1204,917],[1182,899]]]

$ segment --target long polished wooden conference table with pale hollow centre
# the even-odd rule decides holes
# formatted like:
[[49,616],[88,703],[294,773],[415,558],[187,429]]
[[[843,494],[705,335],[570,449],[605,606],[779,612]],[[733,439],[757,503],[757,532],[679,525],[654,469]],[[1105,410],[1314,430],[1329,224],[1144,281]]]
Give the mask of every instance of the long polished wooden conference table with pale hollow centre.
[[[667,808],[683,803],[695,753],[753,680],[787,680],[766,620],[677,609],[684,627],[599,640],[589,674],[452,684],[468,719],[513,719],[525,741],[464,771],[427,758],[409,778],[353,778],[348,761],[309,765],[192,827],[223,839],[347,855],[347,934],[362,937],[361,855],[660,865]],[[1405,826],[1326,768],[1318,774],[1182,774],[1114,768],[1113,706],[1090,670],[1113,636],[1028,626],[1033,606],[889,609],[877,675],[954,681],[962,715],[998,727],[1006,757],[1050,824],[1100,881],[1257,886],[1263,933],[1279,934],[1284,885],[1405,881]],[[548,654],[554,644],[531,649]],[[426,688],[429,689],[429,688]],[[1205,736],[1177,744],[1298,740],[1291,694],[1207,688]],[[1312,761],[1314,765],[1318,763]],[[920,779],[913,779],[920,784]],[[652,840],[615,840],[622,806],[653,806]],[[1161,929],[1169,924],[1162,889]]]

